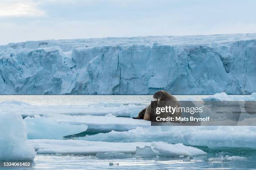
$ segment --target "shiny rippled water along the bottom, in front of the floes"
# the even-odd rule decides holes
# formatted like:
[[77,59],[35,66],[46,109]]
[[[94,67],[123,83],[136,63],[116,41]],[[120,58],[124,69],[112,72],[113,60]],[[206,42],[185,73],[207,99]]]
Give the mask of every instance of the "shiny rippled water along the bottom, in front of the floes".
[[[253,169],[256,168],[256,161],[207,161],[205,158],[193,158],[182,160],[178,158],[129,158],[104,160],[93,156],[74,155],[36,155],[32,168],[33,170],[69,170],[69,169]],[[24,168],[17,168],[24,169]],[[6,168],[10,170],[10,168]]]

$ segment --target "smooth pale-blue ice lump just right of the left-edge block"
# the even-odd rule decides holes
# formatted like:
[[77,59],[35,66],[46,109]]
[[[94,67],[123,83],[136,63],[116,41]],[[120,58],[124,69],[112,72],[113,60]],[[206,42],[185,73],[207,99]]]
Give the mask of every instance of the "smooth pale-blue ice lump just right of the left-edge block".
[[51,118],[26,117],[28,139],[62,139],[67,135],[74,135],[87,130],[86,125],[70,125],[59,123]]

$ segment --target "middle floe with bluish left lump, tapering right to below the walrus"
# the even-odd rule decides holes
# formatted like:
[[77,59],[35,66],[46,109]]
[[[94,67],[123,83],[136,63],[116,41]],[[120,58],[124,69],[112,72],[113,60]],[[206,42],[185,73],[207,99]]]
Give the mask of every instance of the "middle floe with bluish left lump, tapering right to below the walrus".
[[113,115],[46,115],[26,117],[28,139],[62,139],[64,136],[82,133],[103,133],[127,131],[137,127],[149,127],[151,122],[133,120],[128,117],[115,117]]

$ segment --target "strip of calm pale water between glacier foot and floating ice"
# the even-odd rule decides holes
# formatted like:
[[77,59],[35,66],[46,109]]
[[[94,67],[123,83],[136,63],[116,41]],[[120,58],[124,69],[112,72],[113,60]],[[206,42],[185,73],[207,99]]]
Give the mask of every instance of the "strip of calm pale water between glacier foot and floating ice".
[[[209,95],[174,95],[177,100],[202,100]],[[243,96],[243,95],[236,95]],[[140,102],[148,104],[153,95],[0,95],[0,102],[18,100],[32,105],[83,105],[95,102]]]

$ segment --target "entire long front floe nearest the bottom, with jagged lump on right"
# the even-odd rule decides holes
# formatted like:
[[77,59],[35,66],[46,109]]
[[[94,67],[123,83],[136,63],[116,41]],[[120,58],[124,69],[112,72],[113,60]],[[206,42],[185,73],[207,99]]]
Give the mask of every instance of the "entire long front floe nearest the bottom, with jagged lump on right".
[[[33,146],[37,153],[40,154],[85,154],[96,155],[98,157],[108,157],[113,155],[135,154],[136,147],[151,147],[157,155],[174,156],[174,155],[206,155],[200,149],[185,146],[182,144],[169,144],[163,142],[135,142],[135,143],[109,143],[109,142],[92,142],[85,140],[28,140],[29,145]],[[102,153],[102,154],[100,154]],[[105,153],[105,154],[103,154]],[[114,153],[114,154],[113,154]],[[122,156],[127,156],[123,155]]]

